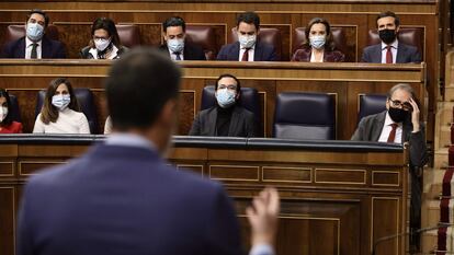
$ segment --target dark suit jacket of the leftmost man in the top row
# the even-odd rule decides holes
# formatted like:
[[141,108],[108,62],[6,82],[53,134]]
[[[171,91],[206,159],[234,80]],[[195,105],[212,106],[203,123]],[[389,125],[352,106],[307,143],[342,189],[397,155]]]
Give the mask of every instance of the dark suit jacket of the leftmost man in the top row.
[[[42,58],[66,58],[65,47],[58,40],[48,39],[46,36],[42,39]],[[10,42],[3,47],[2,58],[25,58],[25,36]]]

